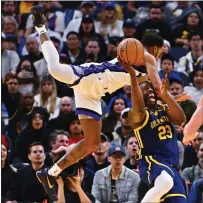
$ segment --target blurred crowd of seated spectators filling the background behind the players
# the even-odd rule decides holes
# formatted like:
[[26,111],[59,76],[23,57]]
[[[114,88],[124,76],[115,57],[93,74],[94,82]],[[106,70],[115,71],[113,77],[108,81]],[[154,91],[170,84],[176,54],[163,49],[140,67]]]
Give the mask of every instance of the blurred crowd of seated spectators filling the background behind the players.
[[[36,171],[52,166],[68,146],[83,139],[73,90],[49,75],[41,52],[30,14],[37,4],[45,8],[48,35],[61,63],[112,60],[123,39],[141,40],[145,33],[156,32],[164,39],[159,75],[168,73],[174,97],[186,92],[178,103],[187,122],[203,95],[203,2],[2,1],[3,203],[51,202]],[[102,98],[101,144],[78,163],[77,178],[64,175],[57,180],[64,186],[66,202],[84,202],[78,187],[88,202],[100,203],[139,203],[149,190],[139,178],[138,143],[126,117],[130,107],[130,86]],[[198,203],[203,201],[203,129],[190,146],[182,143],[183,129],[176,126],[178,169],[188,199],[197,198]],[[117,167],[122,167],[121,175],[109,178]]]

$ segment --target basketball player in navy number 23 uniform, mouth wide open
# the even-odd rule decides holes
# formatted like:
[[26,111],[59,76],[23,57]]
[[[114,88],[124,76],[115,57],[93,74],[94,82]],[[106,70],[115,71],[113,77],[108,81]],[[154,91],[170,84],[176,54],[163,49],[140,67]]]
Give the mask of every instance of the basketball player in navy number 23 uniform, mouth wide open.
[[185,115],[168,91],[167,75],[159,95],[166,107],[157,104],[157,94],[150,81],[139,84],[135,70],[119,61],[131,77],[132,108],[128,116],[139,144],[140,177],[151,186],[141,202],[186,203],[185,189],[176,167],[179,152],[174,128],[174,124],[185,122]]

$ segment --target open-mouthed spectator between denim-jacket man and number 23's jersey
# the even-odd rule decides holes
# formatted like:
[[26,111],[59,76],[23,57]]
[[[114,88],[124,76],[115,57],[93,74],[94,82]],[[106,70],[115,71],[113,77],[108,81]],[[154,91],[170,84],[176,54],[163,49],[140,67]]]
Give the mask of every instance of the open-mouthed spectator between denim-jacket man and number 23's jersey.
[[126,159],[124,165],[127,168],[139,173],[138,161],[137,161],[137,152],[139,148],[138,148],[137,139],[134,135],[129,135],[126,138],[125,147],[127,149],[129,158]]

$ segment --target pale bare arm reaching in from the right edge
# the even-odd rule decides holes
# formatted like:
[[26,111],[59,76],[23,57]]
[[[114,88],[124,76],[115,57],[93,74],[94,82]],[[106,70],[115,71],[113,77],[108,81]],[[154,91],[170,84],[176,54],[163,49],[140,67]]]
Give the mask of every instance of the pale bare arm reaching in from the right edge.
[[190,121],[185,125],[183,143],[187,144],[195,138],[195,133],[203,125],[203,96],[201,96],[197,109],[192,115]]

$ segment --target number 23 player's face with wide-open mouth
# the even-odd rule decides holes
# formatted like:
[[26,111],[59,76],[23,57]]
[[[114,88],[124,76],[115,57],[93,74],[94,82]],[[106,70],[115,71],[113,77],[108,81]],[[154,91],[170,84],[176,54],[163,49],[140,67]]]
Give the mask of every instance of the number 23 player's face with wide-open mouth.
[[157,104],[157,97],[152,84],[150,82],[143,82],[140,84],[140,89],[142,91],[146,106],[149,108],[154,108]]

